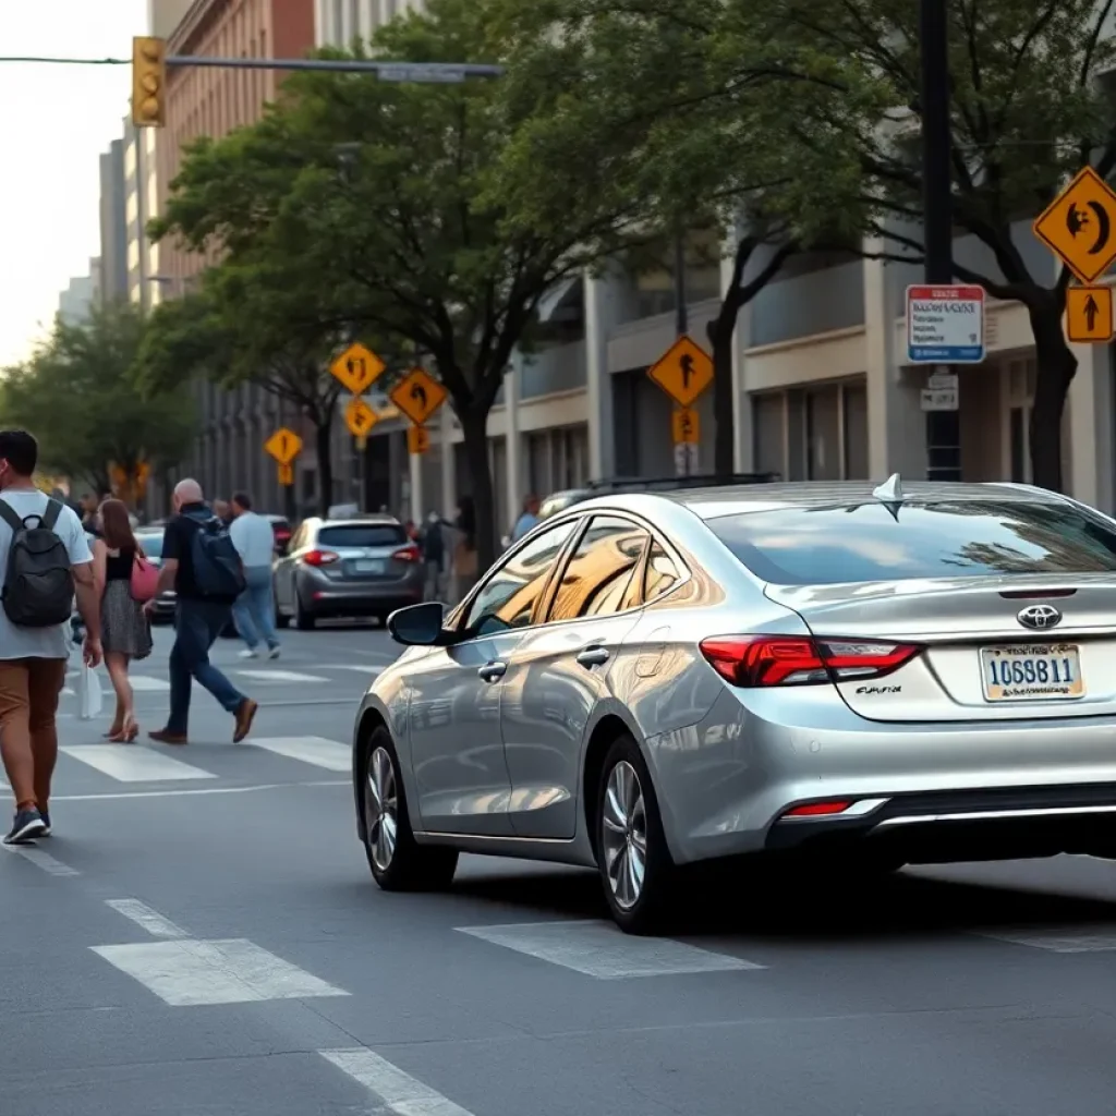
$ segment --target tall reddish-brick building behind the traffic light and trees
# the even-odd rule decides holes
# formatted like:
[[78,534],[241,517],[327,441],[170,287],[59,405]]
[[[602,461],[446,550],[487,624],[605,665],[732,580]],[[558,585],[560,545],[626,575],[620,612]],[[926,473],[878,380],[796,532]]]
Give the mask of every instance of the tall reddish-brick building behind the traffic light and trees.
[[[164,16],[167,13],[164,12]],[[301,58],[314,47],[314,0],[194,0],[167,33],[167,52],[224,58]],[[167,75],[166,126],[158,136],[151,213],[161,212],[185,147],[199,136],[220,138],[258,119],[282,77],[276,70],[174,67]],[[154,134],[155,129],[150,129]],[[148,272],[154,298],[190,291],[213,258],[160,244]],[[286,416],[278,401],[256,386],[225,391],[198,385],[201,431],[191,472],[206,492],[248,489],[263,509],[281,509],[275,462],[263,443]]]

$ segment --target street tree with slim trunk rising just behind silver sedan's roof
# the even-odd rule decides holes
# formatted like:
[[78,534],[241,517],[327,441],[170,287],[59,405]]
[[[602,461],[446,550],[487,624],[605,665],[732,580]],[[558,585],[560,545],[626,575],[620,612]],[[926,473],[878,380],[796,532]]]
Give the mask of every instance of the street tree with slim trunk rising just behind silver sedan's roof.
[[[546,110],[535,112],[506,150],[498,182],[521,227],[560,228],[571,211],[610,198],[647,230],[670,237],[713,229],[725,246],[730,267],[706,337],[714,466],[731,473],[740,312],[796,253],[858,243],[859,169],[836,145],[796,144],[772,118],[770,106],[798,75],[777,65],[747,12],[731,3],[509,7],[518,36],[510,80],[548,90]],[[772,156],[758,158],[760,148]],[[570,164],[580,171],[573,190],[561,173]]]

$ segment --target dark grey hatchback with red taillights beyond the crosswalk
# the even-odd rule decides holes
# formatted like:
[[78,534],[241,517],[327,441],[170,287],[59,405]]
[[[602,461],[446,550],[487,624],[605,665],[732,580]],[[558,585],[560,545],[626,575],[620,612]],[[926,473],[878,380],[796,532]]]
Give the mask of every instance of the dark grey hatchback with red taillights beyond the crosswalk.
[[419,548],[392,516],[307,519],[276,559],[276,614],[312,628],[329,616],[375,616],[422,600]]

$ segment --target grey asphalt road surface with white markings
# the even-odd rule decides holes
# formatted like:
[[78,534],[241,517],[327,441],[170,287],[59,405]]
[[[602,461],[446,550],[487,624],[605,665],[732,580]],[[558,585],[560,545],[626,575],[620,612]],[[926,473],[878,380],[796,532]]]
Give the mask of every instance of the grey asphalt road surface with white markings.
[[106,748],[66,699],[56,836],[0,854],[0,1116],[1113,1112],[1114,866],[729,877],[660,941],[591,873],[463,858],[385,895],[345,770],[384,635],[235,650],[249,745],[204,694],[185,749]]

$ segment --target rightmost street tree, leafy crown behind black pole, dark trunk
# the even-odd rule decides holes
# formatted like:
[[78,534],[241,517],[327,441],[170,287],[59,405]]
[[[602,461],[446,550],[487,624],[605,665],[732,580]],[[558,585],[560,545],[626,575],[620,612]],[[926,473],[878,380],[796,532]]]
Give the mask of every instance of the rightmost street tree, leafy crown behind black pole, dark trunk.
[[[731,0],[759,57],[788,75],[766,102],[770,127],[797,148],[845,153],[859,172],[863,231],[875,254],[924,256],[920,162],[922,97],[917,3],[910,0]],[[1030,219],[1085,165],[1116,169],[1109,77],[1114,0],[946,0],[950,39],[954,228],[982,247],[985,263],[954,258],[958,279],[1021,302],[1038,366],[1031,411],[1035,482],[1061,489],[1061,422],[1077,358],[1062,331],[1071,275],[1026,250]],[[769,167],[778,148],[758,152]],[[801,199],[779,200],[793,218]],[[1029,256],[1031,257],[1029,259]],[[1049,262],[1048,262],[1049,261]]]

